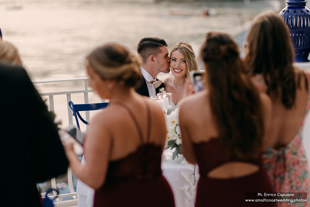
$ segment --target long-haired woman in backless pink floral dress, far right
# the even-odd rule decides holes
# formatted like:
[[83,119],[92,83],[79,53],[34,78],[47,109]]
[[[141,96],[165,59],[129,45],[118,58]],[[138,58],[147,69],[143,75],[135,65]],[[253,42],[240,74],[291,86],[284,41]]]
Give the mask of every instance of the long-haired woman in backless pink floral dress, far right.
[[273,105],[269,142],[274,148],[264,150],[264,167],[275,192],[307,192],[309,199],[309,167],[302,134],[310,108],[310,74],[293,67],[290,34],[276,14],[257,18],[247,42],[247,70]]

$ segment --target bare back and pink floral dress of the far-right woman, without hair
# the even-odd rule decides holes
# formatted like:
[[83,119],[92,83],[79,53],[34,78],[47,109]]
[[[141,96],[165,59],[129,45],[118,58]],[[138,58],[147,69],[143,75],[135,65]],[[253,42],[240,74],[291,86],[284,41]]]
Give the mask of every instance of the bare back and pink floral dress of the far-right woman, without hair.
[[[299,71],[296,76],[303,73]],[[276,192],[310,193],[308,161],[302,142],[303,124],[310,108],[310,88],[307,88],[310,75],[305,72],[302,77],[306,78],[300,79],[291,109],[280,100],[273,102],[270,140],[274,148],[264,149],[263,166]]]

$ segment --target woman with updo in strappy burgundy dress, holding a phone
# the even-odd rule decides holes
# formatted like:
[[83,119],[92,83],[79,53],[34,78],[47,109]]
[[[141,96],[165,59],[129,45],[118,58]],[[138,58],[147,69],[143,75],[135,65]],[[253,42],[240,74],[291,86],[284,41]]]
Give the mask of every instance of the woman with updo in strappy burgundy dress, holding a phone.
[[91,121],[84,141],[86,165],[65,146],[73,173],[95,189],[94,207],[174,207],[162,176],[166,138],[161,108],[135,92],[142,77],[138,58],[119,44],[105,44],[86,57],[90,86],[109,99]]

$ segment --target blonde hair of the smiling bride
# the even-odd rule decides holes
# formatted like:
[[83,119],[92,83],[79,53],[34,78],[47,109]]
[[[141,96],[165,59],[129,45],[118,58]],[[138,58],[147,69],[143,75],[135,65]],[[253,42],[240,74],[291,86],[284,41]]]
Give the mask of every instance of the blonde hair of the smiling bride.
[[176,43],[170,52],[170,58],[171,58],[171,54],[172,52],[179,50],[185,57],[186,60],[186,65],[187,65],[187,71],[186,71],[186,76],[188,79],[192,79],[190,72],[192,70],[199,70],[199,65],[198,62],[196,60],[196,54],[193,51],[193,48],[190,44],[186,43],[186,42],[179,42]]

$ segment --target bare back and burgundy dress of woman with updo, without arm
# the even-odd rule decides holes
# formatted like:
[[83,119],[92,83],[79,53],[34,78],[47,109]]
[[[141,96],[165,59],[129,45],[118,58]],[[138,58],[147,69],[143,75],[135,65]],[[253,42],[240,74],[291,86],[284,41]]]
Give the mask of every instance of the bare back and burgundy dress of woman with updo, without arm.
[[94,206],[148,203],[173,207],[173,194],[161,171],[166,135],[162,110],[135,94],[133,100],[111,101],[107,112],[109,125],[103,126],[113,137],[111,156],[106,181],[95,192]]

